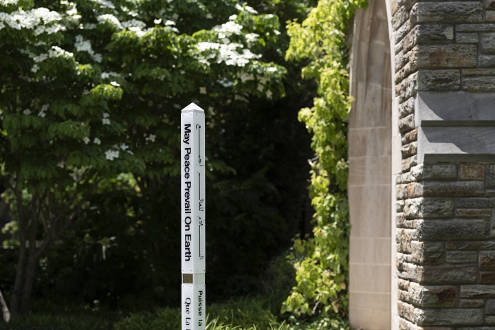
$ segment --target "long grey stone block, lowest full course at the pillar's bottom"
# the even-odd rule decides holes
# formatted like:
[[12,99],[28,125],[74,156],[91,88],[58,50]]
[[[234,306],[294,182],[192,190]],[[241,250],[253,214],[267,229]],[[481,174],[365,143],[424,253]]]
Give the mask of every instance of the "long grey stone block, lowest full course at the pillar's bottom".
[[483,309],[424,309],[421,326],[483,325]]

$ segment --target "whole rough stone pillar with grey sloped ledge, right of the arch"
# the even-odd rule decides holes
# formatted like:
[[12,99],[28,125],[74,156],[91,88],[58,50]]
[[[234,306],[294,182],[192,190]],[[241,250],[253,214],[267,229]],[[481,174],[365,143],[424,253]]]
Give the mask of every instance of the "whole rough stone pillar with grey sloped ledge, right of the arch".
[[399,329],[495,329],[495,1],[391,14]]

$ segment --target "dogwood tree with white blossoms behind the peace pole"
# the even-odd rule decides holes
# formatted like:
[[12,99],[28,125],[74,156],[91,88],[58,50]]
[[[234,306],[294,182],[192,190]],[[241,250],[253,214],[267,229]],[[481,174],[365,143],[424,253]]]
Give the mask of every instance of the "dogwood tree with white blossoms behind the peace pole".
[[0,179],[20,242],[12,316],[100,181],[177,175],[181,107],[283,95],[285,69],[260,55],[277,28],[236,0],[0,0]]

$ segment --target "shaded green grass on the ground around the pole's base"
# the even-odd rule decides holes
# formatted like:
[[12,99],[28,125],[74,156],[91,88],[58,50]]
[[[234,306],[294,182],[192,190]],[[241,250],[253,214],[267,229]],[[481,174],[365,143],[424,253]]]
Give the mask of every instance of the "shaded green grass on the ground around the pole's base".
[[[322,318],[308,322],[280,316],[282,301],[294,285],[294,268],[276,259],[264,276],[264,294],[208,304],[206,330],[349,330],[347,322]],[[61,305],[61,306],[58,306]],[[0,330],[180,330],[180,309],[156,309],[130,315],[102,309],[81,309],[69,302],[48,303],[38,311],[0,321]]]

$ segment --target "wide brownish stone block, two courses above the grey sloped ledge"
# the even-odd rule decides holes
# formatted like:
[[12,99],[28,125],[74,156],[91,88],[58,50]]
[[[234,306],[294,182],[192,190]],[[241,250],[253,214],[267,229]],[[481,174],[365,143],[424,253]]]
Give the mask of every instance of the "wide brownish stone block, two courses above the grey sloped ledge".
[[476,45],[420,45],[416,54],[417,67],[475,67],[476,55]]

